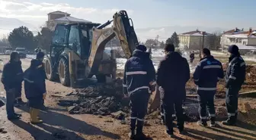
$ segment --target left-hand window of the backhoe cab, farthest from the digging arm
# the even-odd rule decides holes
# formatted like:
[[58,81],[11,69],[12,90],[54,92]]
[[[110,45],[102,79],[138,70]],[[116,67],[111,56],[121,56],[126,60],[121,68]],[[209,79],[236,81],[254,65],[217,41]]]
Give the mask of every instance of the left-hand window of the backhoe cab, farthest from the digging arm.
[[65,26],[56,26],[56,30],[53,36],[53,44],[56,45],[65,45],[66,44],[66,27]]

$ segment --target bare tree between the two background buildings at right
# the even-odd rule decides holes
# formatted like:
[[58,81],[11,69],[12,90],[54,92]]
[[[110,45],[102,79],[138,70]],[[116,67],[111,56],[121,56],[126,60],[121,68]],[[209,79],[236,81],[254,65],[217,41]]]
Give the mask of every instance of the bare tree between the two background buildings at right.
[[219,49],[221,33],[215,32],[205,36],[206,46],[210,49]]

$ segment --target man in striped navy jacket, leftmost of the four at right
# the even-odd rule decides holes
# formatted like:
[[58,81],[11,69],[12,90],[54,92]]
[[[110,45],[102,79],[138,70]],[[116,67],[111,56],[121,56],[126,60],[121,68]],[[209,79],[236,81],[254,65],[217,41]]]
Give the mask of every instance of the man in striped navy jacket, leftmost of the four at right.
[[130,139],[146,139],[142,128],[154,86],[155,68],[146,52],[146,46],[138,45],[132,57],[126,61],[123,74],[123,93],[130,97],[131,106]]

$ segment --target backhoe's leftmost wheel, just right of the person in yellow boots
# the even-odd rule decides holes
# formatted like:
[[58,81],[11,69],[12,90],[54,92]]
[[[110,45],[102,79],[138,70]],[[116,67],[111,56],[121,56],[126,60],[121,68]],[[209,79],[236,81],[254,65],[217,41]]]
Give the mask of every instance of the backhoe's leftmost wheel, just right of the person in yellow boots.
[[58,79],[58,75],[53,72],[53,65],[50,63],[49,58],[46,58],[46,61],[44,62],[44,69],[47,79],[49,79],[50,81],[56,81],[56,79]]

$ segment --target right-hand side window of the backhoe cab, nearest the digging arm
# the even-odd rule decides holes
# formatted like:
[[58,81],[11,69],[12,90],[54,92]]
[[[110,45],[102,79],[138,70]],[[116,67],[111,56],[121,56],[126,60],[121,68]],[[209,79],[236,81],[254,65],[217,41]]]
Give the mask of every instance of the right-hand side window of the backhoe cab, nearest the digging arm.
[[69,48],[72,48],[78,55],[81,55],[81,43],[77,25],[72,25],[70,27]]

